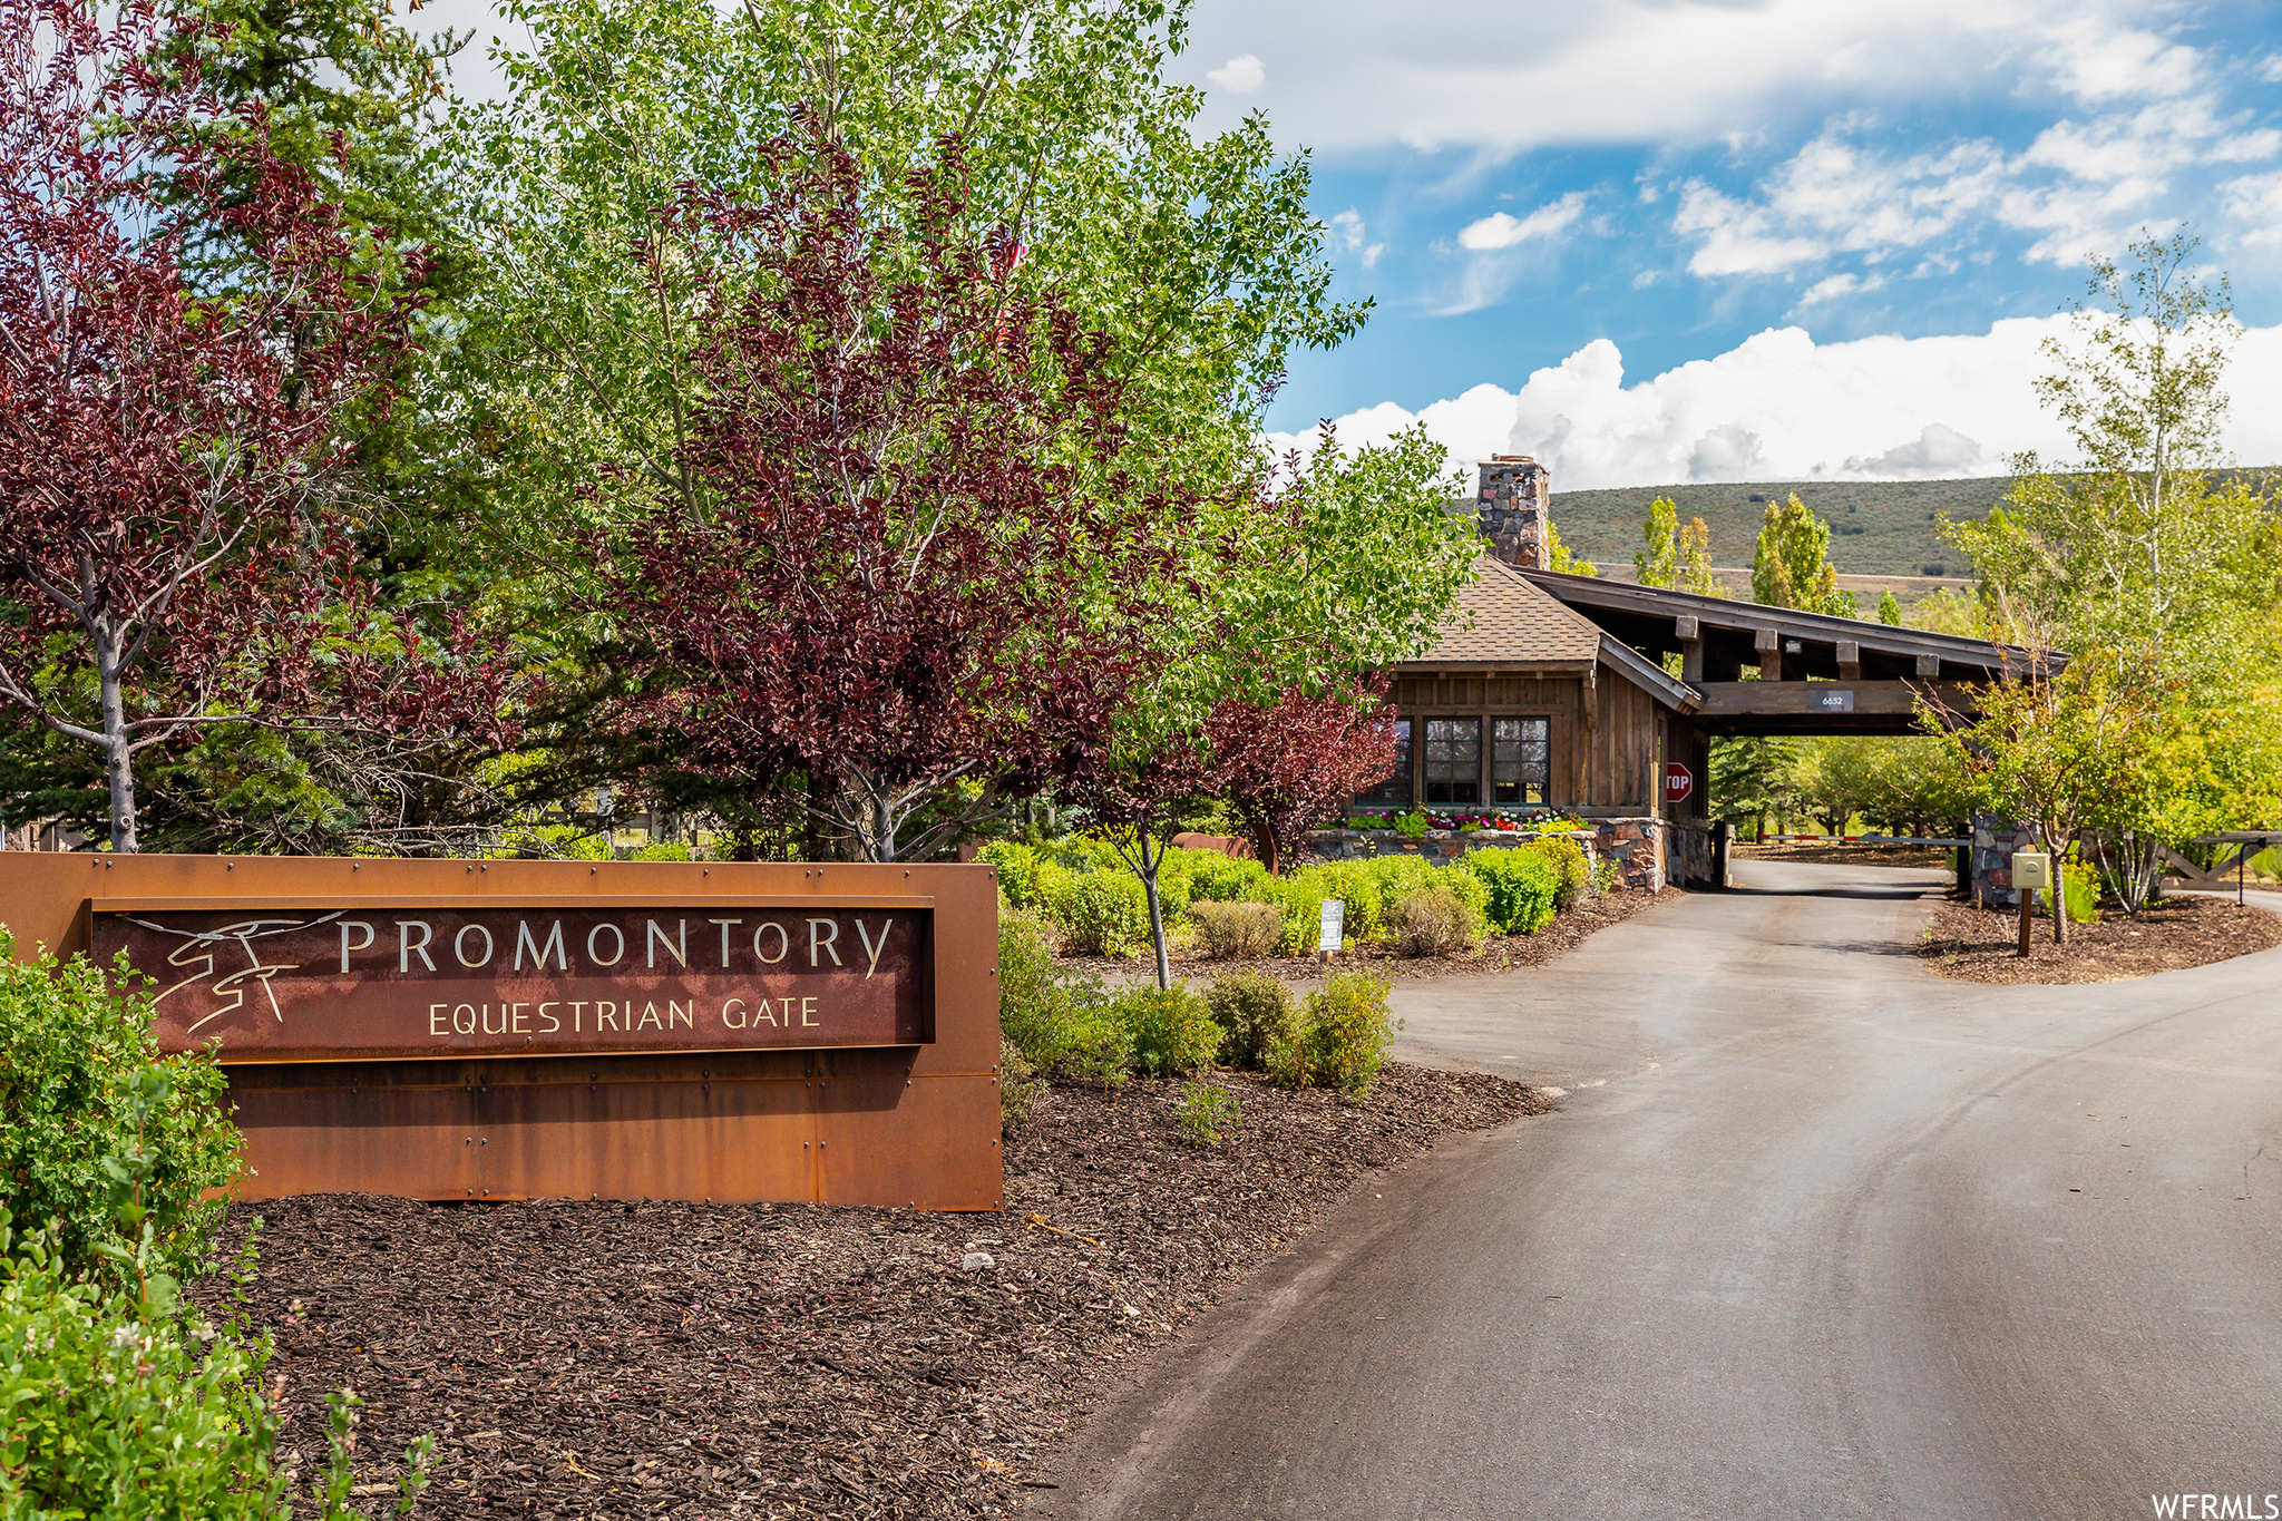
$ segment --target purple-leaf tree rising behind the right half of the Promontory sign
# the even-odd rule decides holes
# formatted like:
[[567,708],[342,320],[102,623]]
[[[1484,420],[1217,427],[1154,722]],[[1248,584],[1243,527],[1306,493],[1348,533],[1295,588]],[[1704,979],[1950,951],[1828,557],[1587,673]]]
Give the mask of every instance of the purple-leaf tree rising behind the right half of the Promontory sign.
[[895,210],[815,135],[771,171],[659,219],[650,262],[710,337],[602,607],[655,659],[630,721],[915,857],[1107,727],[1152,504],[1116,470],[1107,340],[1013,280],[1009,235],[963,233],[956,144]]

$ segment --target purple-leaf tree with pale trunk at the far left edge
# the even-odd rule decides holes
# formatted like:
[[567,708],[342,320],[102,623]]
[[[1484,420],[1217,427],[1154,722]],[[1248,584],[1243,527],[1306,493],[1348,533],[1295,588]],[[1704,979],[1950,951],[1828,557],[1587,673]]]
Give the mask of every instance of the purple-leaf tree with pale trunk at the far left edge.
[[[100,753],[114,851],[135,757],[203,725],[500,727],[500,668],[379,611],[331,504],[402,255],[201,93],[199,36],[0,0],[0,700]],[[185,271],[210,235],[228,290]]]

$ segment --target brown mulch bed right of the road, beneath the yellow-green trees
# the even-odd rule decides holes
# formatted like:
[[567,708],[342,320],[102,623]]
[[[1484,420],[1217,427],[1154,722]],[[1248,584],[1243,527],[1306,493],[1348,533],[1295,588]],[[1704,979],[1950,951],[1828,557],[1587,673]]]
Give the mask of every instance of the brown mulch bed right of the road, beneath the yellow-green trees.
[[2220,898],[2161,898],[2138,919],[2102,910],[2099,924],[2072,924],[2065,946],[2052,944],[2052,919],[2038,917],[2022,960],[2020,910],[1951,901],[1928,908],[1919,960],[1926,971],[1967,983],[2115,983],[2282,946],[2282,914]]

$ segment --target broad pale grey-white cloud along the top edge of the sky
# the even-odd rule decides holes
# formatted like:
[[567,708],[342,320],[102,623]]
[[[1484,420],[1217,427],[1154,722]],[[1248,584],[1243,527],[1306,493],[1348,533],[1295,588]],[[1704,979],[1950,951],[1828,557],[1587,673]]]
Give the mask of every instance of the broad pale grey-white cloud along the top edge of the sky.
[[[2088,18],[2086,9],[2095,14]],[[1193,55],[1271,34],[1276,130],[1324,153],[1668,144],[2040,75],[2063,98],[2154,98],[2202,68],[2170,0],[1244,0],[1193,14]],[[2047,91],[2049,93],[2049,91]]]

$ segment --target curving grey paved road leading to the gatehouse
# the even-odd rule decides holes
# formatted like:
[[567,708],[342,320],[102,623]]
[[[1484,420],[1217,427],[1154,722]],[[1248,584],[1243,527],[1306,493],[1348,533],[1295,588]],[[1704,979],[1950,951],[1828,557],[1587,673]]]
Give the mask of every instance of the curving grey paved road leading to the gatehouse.
[[1043,1514],[2264,1516],[2282,951],[1976,987],[1903,953],[1935,873],[1739,880],[1413,997],[1408,1056],[1561,1111],[1351,1195]]

